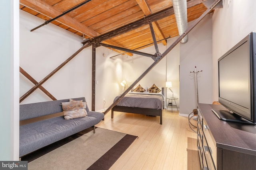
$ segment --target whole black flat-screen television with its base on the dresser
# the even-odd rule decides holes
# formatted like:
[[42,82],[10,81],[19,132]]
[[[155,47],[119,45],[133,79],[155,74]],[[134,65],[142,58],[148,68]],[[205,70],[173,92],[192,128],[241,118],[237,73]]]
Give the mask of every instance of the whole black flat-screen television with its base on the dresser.
[[251,32],[218,59],[221,120],[256,124],[256,33]]

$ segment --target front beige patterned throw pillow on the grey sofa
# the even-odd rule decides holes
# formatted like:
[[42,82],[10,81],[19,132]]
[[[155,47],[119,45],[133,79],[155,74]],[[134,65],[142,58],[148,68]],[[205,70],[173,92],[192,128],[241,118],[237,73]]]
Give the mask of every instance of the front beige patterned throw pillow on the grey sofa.
[[61,104],[65,120],[86,117],[82,100],[62,102]]

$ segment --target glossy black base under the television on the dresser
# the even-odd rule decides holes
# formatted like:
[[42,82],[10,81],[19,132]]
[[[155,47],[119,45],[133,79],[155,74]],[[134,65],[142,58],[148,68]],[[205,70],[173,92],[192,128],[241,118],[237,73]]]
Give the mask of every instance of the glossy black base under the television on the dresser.
[[212,109],[212,112],[220,119],[223,121],[231,121],[231,122],[237,122],[237,123],[246,123],[250,125],[256,125],[239,115],[236,115],[235,113],[231,113],[228,109],[217,109],[214,108]]

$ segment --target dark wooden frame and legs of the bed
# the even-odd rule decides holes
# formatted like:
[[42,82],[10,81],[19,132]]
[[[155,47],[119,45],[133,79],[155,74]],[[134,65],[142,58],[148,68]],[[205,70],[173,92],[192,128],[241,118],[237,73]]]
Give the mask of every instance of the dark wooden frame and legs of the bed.
[[[164,95],[164,88],[162,88],[162,94]],[[114,118],[114,111],[120,111],[120,112],[125,112],[125,113],[137,113],[137,114],[150,115],[150,116],[160,116],[160,125],[162,125],[162,109],[114,106],[111,109],[111,118],[112,119]]]

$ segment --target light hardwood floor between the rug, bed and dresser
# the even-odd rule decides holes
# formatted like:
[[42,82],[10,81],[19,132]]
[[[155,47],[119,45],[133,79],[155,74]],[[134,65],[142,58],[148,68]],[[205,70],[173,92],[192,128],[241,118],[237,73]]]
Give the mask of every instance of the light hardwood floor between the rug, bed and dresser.
[[200,170],[197,134],[178,111],[164,110],[162,125],[159,116],[133,113],[114,112],[111,119],[109,112],[104,119],[96,127],[138,136],[110,170]]

